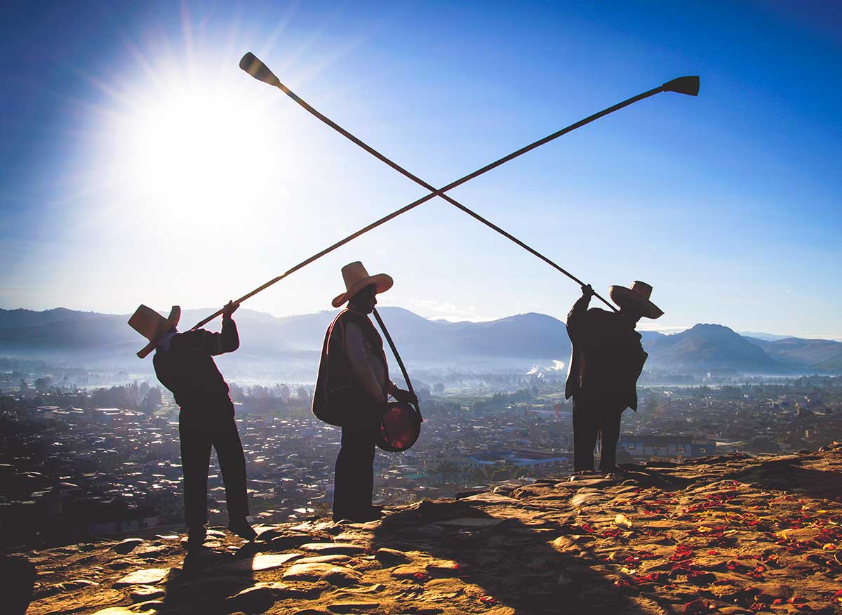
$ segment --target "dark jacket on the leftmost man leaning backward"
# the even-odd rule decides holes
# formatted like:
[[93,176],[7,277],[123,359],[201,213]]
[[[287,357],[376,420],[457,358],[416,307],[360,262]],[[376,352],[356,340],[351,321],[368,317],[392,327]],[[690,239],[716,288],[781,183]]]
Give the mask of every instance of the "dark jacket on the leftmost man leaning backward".
[[196,329],[175,334],[169,350],[155,352],[152,365],[158,380],[173,392],[175,403],[184,412],[233,416],[228,385],[213,357],[233,352],[239,346],[237,324],[231,318],[223,318],[221,333]]

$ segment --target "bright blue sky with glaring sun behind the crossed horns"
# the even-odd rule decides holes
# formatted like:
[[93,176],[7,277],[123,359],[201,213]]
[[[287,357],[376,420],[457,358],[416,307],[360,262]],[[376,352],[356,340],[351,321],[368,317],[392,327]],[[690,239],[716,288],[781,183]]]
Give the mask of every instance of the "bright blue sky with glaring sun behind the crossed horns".
[[[658,94],[451,195],[598,291],[665,315],[842,338],[834,3],[4,3],[0,307],[220,306],[425,190]],[[254,297],[330,309],[362,260],[431,318],[563,318],[578,286],[434,200]],[[595,305],[595,303],[594,303]]]

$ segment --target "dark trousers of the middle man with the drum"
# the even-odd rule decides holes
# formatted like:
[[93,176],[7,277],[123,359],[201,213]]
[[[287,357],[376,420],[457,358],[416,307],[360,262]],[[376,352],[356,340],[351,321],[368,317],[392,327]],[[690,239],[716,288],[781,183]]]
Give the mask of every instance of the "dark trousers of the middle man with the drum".
[[374,438],[371,430],[342,428],[342,446],[333,475],[333,518],[356,519],[371,513],[374,495]]

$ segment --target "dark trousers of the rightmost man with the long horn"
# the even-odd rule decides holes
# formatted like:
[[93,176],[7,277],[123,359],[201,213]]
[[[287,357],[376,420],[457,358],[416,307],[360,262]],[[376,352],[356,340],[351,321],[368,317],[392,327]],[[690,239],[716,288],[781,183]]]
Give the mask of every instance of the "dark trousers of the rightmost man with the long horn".
[[622,409],[599,400],[573,398],[573,472],[594,469],[594,446],[600,437],[600,472],[616,466]]

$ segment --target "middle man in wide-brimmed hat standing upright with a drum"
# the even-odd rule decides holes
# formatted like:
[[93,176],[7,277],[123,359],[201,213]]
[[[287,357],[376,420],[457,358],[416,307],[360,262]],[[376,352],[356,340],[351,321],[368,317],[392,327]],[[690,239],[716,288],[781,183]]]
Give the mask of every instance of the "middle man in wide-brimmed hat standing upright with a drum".
[[322,346],[313,414],[342,427],[342,446],[333,479],[333,519],[371,521],[381,516],[374,493],[376,429],[390,395],[418,403],[389,379],[383,340],[368,315],[377,295],[392,288],[392,276],[369,275],[358,260],[342,268],[345,291],[333,307],[348,307],[333,318]]

